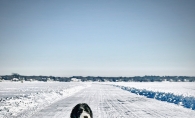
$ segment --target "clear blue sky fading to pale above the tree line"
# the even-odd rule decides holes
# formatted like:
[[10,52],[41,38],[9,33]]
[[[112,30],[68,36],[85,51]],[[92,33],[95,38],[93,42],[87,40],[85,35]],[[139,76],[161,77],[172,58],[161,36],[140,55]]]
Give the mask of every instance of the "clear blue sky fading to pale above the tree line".
[[194,0],[0,0],[0,75],[195,76]]

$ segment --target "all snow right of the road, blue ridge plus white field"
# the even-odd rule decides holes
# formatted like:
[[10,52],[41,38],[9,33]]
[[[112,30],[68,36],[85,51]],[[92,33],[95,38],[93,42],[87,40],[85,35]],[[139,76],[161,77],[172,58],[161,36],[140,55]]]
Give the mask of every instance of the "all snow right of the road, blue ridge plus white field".
[[112,85],[131,93],[195,110],[194,82],[123,82],[112,83]]

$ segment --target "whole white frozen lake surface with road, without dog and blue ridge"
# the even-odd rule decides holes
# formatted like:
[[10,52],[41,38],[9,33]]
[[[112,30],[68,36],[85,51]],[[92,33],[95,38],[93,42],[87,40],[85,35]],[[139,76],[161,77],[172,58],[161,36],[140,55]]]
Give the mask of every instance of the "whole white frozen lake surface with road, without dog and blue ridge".
[[91,107],[94,118],[192,118],[195,116],[192,108],[142,94],[163,93],[164,96],[167,95],[164,93],[171,93],[191,97],[193,104],[194,85],[188,82],[1,82],[0,117],[69,118],[72,108],[85,102]]

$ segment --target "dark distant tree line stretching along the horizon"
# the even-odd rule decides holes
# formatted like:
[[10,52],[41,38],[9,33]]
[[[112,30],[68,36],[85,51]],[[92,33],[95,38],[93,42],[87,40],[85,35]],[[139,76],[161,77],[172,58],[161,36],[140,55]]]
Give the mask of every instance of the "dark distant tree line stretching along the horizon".
[[17,73],[12,75],[0,76],[1,80],[18,81],[60,81],[71,82],[72,78],[79,79],[82,82],[195,82],[195,77],[191,76],[134,76],[134,77],[94,77],[94,76],[72,76],[72,77],[54,77],[54,76],[24,76]]

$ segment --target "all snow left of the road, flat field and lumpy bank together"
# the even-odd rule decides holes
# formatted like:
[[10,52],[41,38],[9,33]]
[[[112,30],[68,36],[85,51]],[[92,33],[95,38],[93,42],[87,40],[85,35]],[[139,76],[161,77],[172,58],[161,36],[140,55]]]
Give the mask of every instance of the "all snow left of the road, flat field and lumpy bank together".
[[60,82],[1,82],[0,117],[19,116],[26,110],[38,111],[89,86]]

